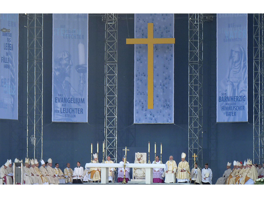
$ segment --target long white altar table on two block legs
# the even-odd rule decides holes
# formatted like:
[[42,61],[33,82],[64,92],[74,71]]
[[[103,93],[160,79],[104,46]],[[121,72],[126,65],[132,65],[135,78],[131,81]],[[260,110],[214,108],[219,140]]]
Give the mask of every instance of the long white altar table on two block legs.
[[[86,163],[85,169],[89,170],[91,167],[101,168],[101,183],[108,183],[108,170],[109,168],[121,168],[123,165],[119,163],[105,164],[105,163]],[[146,184],[153,183],[153,168],[165,168],[165,164],[126,164],[126,168],[145,168],[146,170]]]

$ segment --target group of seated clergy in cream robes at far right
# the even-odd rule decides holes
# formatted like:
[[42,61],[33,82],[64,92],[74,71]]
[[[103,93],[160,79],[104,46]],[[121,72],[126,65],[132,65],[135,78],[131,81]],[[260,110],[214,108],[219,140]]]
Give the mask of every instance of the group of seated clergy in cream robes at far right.
[[256,179],[264,177],[264,163],[261,168],[256,168],[252,165],[252,160],[247,159],[241,161],[233,161],[234,168],[231,170],[231,163],[227,163],[222,177],[217,179],[216,184],[254,184]]

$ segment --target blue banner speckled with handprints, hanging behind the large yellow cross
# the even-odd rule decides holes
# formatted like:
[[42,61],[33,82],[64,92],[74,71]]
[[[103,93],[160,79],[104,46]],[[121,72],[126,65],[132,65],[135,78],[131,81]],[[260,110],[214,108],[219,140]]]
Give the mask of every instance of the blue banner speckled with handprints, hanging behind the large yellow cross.
[[[135,38],[147,38],[153,23],[154,38],[174,38],[174,14],[135,14]],[[154,108],[147,105],[147,44],[135,45],[134,123],[174,122],[174,44],[153,47]]]

